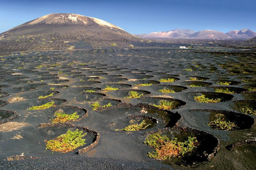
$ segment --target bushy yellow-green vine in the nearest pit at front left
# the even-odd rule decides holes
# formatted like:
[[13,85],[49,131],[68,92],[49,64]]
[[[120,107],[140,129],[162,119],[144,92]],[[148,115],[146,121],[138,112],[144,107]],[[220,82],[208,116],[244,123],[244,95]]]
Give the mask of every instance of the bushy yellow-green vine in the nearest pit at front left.
[[[70,152],[76,149],[79,146],[85,145],[85,139],[82,139],[86,133],[83,134],[83,131],[70,131],[68,130],[67,133],[58,136],[52,140],[44,140],[46,149],[50,149],[55,152]],[[53,152],[52,152],[53,153]]]

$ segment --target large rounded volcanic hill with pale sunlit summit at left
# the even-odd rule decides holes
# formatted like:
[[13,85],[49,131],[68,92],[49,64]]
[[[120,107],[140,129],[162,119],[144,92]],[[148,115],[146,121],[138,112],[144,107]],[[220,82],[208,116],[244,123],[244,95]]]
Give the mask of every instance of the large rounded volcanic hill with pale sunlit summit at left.
[[141,39],[116,25],[78,14],[54,13],[0,34],[0,51],[132,47]]

